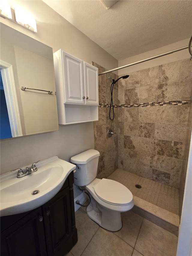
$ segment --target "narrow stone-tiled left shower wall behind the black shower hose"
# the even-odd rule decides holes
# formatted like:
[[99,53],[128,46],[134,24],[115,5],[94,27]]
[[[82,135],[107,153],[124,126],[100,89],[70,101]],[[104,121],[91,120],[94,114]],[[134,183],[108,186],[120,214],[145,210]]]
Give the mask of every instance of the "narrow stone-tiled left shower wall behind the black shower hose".
[[[105,68],[92,62],[92,65],[99,69],[99,73],[106,71]],[[110,86],[112,80],[108,77],[117,79],[114,73],[99,76],[99,104],[110,104]],[[118,83],[113,90],[113,104],[118,104]],[[107,178],[117,169],[118,160],[118,141],[117,141],[117,108],[114,109],[115,118],[109,119],[109,107],[99,107],[99,120],[94,122],[94,141],[95,149],[100,152],[97,178]],[[107,137],[107,131],[111,128],[116,132],[112,137]]]

